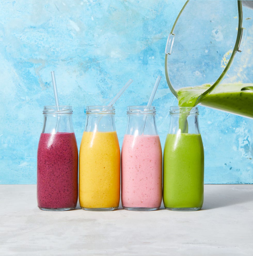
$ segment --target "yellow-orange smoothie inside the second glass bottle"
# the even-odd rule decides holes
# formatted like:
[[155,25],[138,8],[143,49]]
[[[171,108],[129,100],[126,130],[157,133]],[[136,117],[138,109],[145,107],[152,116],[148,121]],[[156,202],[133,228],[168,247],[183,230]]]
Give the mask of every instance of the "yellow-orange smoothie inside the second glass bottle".
[[82,208],[117,208],[120,201],[120,147],[116,131],[84,131],[79,153]]

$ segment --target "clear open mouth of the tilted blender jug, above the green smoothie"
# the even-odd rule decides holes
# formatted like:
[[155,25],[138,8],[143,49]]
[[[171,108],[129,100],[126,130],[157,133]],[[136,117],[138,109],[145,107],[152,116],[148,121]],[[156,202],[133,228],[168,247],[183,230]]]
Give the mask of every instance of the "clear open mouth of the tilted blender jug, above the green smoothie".
[[224,78],[236,52],[241,52],[241,1],[186,1],[165,48],[165,75],[171,92],[182,87],[212,85]]

